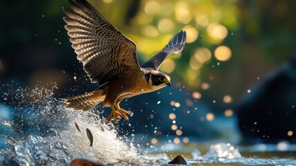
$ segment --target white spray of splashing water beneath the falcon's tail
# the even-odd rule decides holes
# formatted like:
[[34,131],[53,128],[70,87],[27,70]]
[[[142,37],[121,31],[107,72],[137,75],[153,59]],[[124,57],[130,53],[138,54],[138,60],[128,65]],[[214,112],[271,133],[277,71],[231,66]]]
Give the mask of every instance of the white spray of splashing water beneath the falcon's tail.
[[[71,111],[53,97],[52,89],[16,89],[5,93],[6,105],[14,106],[10,133],[5,133],[8,150],[0,160],[21,165],[69,165],[75,158],[101,163],[137,163],[137,149],[119,136],[115,126],[99,115]],[[75,127],[77,123],[80,131]],[[90,146],[86,128],[93,136]]]

